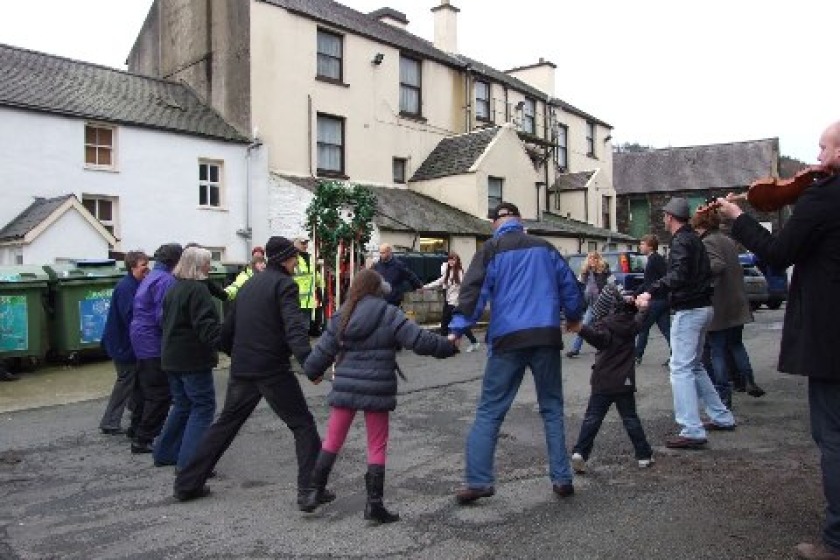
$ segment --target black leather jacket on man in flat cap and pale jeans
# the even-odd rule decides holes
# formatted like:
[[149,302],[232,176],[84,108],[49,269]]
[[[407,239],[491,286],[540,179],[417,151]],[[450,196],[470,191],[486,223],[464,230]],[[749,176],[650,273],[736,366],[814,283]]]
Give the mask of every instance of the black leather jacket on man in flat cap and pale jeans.
[[650,287],[653,297],[668,295],[671,309],[712,305],[712,270],[700,237],[689,225],[674,232],[668,253],[668,272]]

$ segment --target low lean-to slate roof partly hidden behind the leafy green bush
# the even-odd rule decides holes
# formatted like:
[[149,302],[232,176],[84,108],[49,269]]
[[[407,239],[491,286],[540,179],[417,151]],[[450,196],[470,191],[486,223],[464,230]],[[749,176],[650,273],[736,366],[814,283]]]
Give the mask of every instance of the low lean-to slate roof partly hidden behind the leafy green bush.
[[[314,177],[292,177],[280,174],[276,176],[312,193],[317,190],[318,183],[321,182],[320,179]],[[493,228],[488,220],[476,218],[434,198],[409,189],[365,186],[376,195],[376,214],[373,222],[380,229],[479,237],[493,235]]]

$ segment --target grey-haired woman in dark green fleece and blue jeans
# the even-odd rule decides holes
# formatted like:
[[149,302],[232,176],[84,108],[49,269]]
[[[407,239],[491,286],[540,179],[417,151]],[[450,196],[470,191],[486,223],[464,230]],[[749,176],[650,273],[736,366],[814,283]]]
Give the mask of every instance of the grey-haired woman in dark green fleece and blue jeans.
[[213,423],[221,323],[207,287],[210,251],[184,250],[172,271],[176,283],[163,299],[161,367],[169,378],[172,409],[154,445],[155,466],[183,469]]

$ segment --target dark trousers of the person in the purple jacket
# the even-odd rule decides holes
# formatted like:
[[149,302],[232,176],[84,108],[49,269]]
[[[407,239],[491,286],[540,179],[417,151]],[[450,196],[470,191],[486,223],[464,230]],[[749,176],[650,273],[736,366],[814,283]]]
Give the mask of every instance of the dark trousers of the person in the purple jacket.
[[[160,358],[137,360],[137,383],[134,387],[134,402],[138,403],[131,415],[134,440],[140,444],[151,443],[160,434],[172,401],[169,377],[160,367]],[[137,409],[140,412],[135,426]]]

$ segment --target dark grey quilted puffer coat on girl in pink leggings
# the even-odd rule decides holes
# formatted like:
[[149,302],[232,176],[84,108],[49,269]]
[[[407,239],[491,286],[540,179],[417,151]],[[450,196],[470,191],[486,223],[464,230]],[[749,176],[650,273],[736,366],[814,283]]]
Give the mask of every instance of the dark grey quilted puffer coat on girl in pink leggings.
[[317,379],[336,362],[330,406],[389,411],[397,406],[397,344],[421,356],[457,352],[445,337],[420,328],[397,307],[375,296],[362,298],[338,339],[343,309],[332,318],[303,365]]

